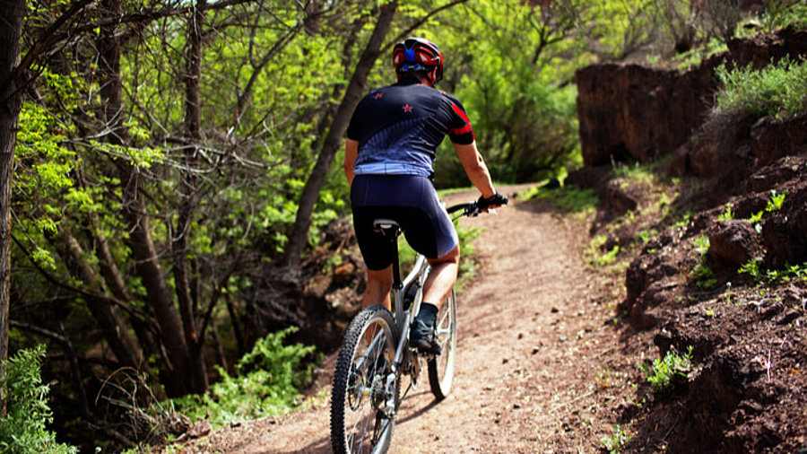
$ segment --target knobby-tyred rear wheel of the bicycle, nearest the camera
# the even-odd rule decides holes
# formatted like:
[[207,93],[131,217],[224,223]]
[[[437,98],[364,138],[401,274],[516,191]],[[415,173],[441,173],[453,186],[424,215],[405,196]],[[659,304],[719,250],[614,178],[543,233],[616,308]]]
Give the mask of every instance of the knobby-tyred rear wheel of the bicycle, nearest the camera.
[[345,333],[331,394],[334,453],[386,452],[395,428],[400,378],[392,371],[398,338],[389,310],[361,310]]

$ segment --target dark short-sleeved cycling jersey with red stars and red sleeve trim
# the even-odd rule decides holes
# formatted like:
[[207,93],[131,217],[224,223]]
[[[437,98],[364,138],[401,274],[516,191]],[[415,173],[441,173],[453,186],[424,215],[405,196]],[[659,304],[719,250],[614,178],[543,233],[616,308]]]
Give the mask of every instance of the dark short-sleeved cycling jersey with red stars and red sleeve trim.
[[369,92],[347,130],[359,142],[355,175],[420,175],[432,178],[439,144],[473,143],[473,128],[455,97],[413,77]]

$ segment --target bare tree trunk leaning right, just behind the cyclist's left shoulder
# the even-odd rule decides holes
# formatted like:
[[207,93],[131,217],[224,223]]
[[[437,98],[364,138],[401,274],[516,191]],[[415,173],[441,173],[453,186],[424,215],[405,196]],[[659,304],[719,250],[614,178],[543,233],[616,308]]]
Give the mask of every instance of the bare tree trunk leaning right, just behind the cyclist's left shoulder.
[[348,83],[342,102],[339,104],[339,108],[336,109],[331,128],[325,136],[325,142],[322,145],[322,150],[319,152],[317,163],[314,165],[314,169],[311,170],[311,174],[306,181],[306,186],[299,196],[297,218],[294,221],[294,228],[291,231],[291,237],[289,238],[289,244],[286,246],[284,257],[284,265],[289,267],[291,271],[299,267],[303,249],[305,249],[308,243],[308,229],[311,227],[311,216],[314,214],[314,205],[317,204],[319,190],[325,182],[328,170],[331,169],[331,164],[334,162],[334,155],[339,145],[342,144],[342,137],[347,130],[353,110],[359,105],[361,96],[364,94],[369,72],[376,63],[378,55],[381,53],[381,44],[386,37],[387,31],[389,31],[393,18],[395,18],[395,9],[397,6],[397,0],[393,0],[381,7],[381,13],[378,14],[376,28],[370,36],[367,47],[364,48],[364,52],[361,54],[359,63],[356,65],[356,70],[353,71],[351,82]]

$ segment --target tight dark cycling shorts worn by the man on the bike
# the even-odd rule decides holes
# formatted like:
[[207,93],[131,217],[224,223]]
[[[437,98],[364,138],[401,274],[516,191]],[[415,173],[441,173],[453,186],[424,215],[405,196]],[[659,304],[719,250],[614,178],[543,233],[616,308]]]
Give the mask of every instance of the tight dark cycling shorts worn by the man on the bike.
[[389,240],[373,231],[376,219],[392,219],[406,241],[427,258],[445,256],[459,243],[454,224],[431,180],[414,175],[356,175],[351,185],[353,229],[371,270],[392,264]]

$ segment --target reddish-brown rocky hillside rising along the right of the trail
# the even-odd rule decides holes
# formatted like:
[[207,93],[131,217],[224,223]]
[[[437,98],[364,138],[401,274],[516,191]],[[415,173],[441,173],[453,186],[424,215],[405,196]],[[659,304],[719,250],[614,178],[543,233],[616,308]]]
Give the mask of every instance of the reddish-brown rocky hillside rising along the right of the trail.
[[[691,365],[622,406],[621,452],[807,452],[807,114],[703,127],[717,65],[807,56],[807,33],[735,39],[689,72],[594,65],[577,74],[593,236],[629,257],[630,336]],[[630,179],[634,162],[655,170]],[[671,198],[672,197],[672,198]]]

